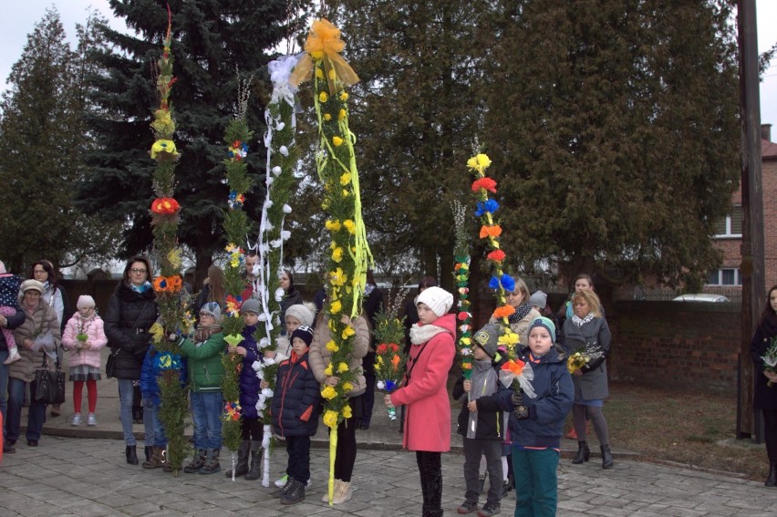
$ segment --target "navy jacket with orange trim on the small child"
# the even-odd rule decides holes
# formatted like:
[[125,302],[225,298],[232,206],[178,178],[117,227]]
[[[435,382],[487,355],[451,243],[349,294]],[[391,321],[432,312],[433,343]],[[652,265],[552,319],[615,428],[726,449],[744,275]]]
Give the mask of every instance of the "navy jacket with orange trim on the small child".
[[273,395],[273,428],[280,436],[313,436],[321,413],[321,387],[307,363],[307,353],[286,359],[278,367]]

